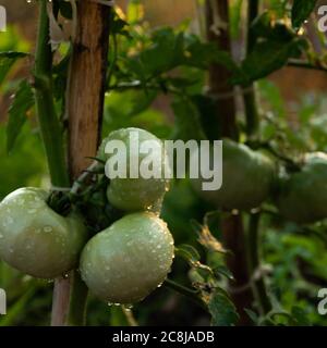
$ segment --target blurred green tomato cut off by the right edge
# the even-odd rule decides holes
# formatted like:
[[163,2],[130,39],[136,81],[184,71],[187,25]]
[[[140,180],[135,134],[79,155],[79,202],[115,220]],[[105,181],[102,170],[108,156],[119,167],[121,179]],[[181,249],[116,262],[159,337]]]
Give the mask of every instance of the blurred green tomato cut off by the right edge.
[[327,217],[327,154],[310,153],[300,172],[282,178],[278,196],[281,214],[296,223]]

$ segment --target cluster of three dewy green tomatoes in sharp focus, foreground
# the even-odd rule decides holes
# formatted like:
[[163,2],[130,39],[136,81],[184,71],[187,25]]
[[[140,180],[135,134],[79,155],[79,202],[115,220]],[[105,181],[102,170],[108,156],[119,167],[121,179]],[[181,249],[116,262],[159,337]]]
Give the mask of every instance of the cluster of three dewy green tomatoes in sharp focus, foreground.
[[[126,145],[128,158],[144,157],[138,148],[129,147],[131,132],[136,132],[141,142],[157,141],[166,160],[162,142],[137,128],[110,134],[99,158],[110,158],[105,152],[110,139]],[[21,188],[7,196],[0,203],[0,258],[40,278],[80,268],[88,288],[108,302],[132,303],[146,297],[165,281],[173,260],[173,238],[158,216],[168,181],[128,176],[107,182],[108,200],[124,216],[88,241],[74,206],[63,216],[49,207],[49,194],[43,189]]]

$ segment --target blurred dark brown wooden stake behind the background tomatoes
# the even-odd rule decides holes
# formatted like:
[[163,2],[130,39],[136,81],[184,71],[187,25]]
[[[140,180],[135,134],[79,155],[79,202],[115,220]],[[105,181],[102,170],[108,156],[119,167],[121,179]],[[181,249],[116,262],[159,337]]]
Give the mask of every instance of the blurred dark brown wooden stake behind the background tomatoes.
[[[208,40],[216,42],[219,49],[231,51],[231,41],[228,26],[213,30],[218,22],[229,24],[229,1],[227,0],[207,0],[206,1],[206,26]],[[222,65],[211,64],[209,67],[209,92],[219,96],[220,94],[232,94],[233,88],[229,83],[230,72]],[[211,124],[211,128],[216,129],[215,139],[221,136],[239,140],[239,129],[237,125],[237,111],[234,98],[221,99],[217,103],[216,119],[219,120],[218,127]],[[220,126],[220,128],[219,128]],[[222,239],[226,249],[231,254],[226,258],[227,266],[233,274],[235,283],[231,282],[230,286],[242,288],[250,282],[246,268],[246,250],[244,248],[244,228],[242,214],[223,216],[221,220]],[[244,308],[250,308],[253,302],[253,294],[246,288],[244,291],[231,294],[232,301],[240,314],[239,325],[251,325],[251,320]]]

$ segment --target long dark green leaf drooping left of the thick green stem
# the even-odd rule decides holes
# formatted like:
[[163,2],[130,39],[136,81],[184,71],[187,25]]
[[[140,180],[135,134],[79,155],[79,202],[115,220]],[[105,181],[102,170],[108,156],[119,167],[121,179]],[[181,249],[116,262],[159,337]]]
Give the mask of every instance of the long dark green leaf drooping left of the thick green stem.
[[34,104],[34,95],[27,80],[22,80],[9,108],[7,126],[7,151],[11,151],[24,123],[26,113]]

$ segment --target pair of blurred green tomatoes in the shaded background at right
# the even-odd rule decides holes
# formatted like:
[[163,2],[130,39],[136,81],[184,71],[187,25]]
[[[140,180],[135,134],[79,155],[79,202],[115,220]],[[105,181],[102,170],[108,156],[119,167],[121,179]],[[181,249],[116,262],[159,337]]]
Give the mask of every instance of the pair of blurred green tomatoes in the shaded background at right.
[[[314,223],[327,217],[327,154],[305,154],[296,171],[278,167],[266,153],[229,139],[222,148],[222,186],[203,191],[203,178],[192,181],[195,190],[226,210],[258,208],[269,197],[279,212],[295,223]],[[287,173],[287,174],[286,174]]]

